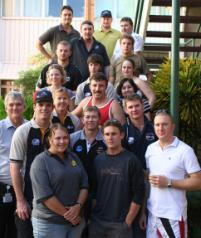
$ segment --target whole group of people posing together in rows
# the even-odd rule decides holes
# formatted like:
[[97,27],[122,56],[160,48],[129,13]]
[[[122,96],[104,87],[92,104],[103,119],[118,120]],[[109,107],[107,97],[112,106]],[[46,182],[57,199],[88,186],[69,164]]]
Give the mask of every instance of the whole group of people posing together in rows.
[[24,119],[20,92],[5,97],[0,236],[186,238],[185,191],[201,189],[201,169],[172,117],[151,115],[155,94],[139,78],[151,73],[132,20],[123,17],[119,32],[104,10],[100,30],[86,20],[79,33],[70,6],[60,16],[37,42],[49,63],[33,118]]

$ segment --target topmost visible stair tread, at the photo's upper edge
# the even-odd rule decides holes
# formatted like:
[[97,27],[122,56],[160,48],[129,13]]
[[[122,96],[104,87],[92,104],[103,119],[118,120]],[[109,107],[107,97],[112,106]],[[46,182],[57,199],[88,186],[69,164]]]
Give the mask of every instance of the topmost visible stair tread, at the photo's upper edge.
[[[177,1],[177,0],[174,0]],[[152,6],[172,6],[172,0],[153,0]],[[200,0],[181,0],[181,7],[201,7]]]

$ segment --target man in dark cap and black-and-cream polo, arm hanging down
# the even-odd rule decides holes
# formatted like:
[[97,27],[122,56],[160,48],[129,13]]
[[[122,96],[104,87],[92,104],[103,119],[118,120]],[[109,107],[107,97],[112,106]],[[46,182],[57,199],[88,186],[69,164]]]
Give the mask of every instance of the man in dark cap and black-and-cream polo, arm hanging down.
[[52,94],[40,90],[34,94],[34,118],[17,128],[10,149],[10,171],[16,195],[16,227],[18,238],[33,237],[31,225],[31,164],[46,145],[46,135],[53,110]]

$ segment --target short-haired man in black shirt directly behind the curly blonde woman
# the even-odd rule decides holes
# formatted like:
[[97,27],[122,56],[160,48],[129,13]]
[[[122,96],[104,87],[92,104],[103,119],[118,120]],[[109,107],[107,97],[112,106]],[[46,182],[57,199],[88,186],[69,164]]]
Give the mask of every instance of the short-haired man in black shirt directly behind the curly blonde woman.
[[47,71],[50,65],[59,64],[61,65],[66,72],[66,82],[63,85],[64,87],[75,91],[77,86],[82,82],[82,76],[79,69],[70,63],[70,56],[72,54],[71,44],[67,41],[60,41],[57,44],[56,48],[56,59],[52,63],[46,65],[39,76],[39,79],[36,83],[36,90],[44,88],[47,85]]

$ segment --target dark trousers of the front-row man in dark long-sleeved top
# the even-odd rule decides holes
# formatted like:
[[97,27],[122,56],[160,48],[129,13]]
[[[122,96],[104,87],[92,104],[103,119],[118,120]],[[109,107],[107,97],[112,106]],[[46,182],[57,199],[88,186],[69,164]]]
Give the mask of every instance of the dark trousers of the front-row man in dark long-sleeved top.
[[89,225],[89,238],[133,238],[133,233],[125,222],[114,223],[93,219]]

